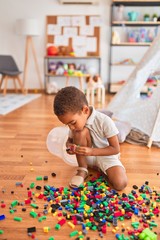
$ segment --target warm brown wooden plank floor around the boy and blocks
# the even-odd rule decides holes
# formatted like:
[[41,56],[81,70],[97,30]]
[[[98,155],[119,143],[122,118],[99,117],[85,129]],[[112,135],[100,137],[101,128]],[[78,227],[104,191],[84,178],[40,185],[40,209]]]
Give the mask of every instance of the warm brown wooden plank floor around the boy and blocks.
[[[47,220],[39,222],[38,218],[31,218],[30,205],[22,206],[25,199],[28,199],[27,188],[32,182],[35,186],[42,187],[44,185],[68,186],[74,172],[74,167],[66,165],[63,160],[51,155],[46,148],[47,134],[52,128],[61,125],[52,111],[53,98],[53,96],[42,95],[16,111],[0,116],[0,215],[5,215],[5,220],[0,220],[0,230],[4,231],[0,234],[1,240],[31,239],[27,235],[27,228],[32,226],[36,226],[35,239],[39,240],[47,240],[51,236],[55,240],[67,240],[70,239],[69,234],[73,231],[67,223],[60,230],[55,230],[57,216],[47,214]],[[155,147],[147,149],[145,146],[123,143],[121,160],[126,167],[129,179],[128,186],[123,192],[129,194],[133,185],[140,187],[145,181],[149,182],[151,188],[160,192],[160,149]],[[51,176],[53,172],[56,173],[56,177]],[[96,172],[91,173],[96,176]],[[37,181],[37,176],[48,176],[48,181]],[[17,182],[22,182],[23,187],[16,186]],[[35,188],[31,190],[35,194],[40,192]],[[14,200],[17,200],[20,206],[15,206],[16,211],[11,214],[9,208]],[[37,199],[36,196],[33,196],[33,200],[36,200],[35,203],[39,206],[35,212],[42,213],[46,201]],[[152,200],[154,201],[154,198]],[[6,204],[4,208],[3,202]],[[26,208],[26,212],[23,212],[22,208]],[[22,221],[14,221],[14,217],[21,217]],[[158,217],[155,221],[160,223]],[[119,221],[117,233],[122,234],[122,223],[125,224],[124,228],[131,226],[131,220]],[[51,228],[49,233],[44,233],[45,226]],[[76,226],[75,229],[80,231],[81,226]],[[160,227],[155,227],[153,231],[158,233],[160,239],[159,229]],[[107,227],[104,239],[115,239],[115,233],[112,233],[112,230],[112,225]],[[128,236],[127,230],[124,234]],[[89,230],[87,236],[91,240],[101,239],[98,231]],[[87,236],[84,239],[87,239]],[[75,238],[72,237],[72,239]]]

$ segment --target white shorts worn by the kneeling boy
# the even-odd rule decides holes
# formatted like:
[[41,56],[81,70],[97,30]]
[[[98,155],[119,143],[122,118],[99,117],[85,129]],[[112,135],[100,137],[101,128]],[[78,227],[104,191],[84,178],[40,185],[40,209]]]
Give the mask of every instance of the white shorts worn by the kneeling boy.
[[86,157],[86,160],[88,167],[98,168],[105,174],[107,169],[114,166],[121,166],[124,168],[123,164],[120,161],[120,154],[112,156],[88,156]]

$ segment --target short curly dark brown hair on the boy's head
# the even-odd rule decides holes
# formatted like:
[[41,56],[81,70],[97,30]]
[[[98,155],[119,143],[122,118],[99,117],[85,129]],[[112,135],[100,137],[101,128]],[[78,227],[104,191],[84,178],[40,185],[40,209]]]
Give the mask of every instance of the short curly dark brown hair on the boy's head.
[[88,102],[85,94],[75,87],[62,88],[55,96],[53,109],[57,116],[65,113],[77,113],[82,110],[83,106]]

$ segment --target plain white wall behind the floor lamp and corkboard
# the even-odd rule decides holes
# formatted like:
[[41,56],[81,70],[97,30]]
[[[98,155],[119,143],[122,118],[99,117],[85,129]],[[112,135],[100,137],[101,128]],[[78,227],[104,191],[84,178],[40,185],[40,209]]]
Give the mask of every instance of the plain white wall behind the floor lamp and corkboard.
[[[108,56],[110,42],[110,0],[100,0],[99,5],[60,5],[58,0],[1,0],[0,1],[0,54],[13,55],[23,71],[25,38],[15,32],[17,19],[36,18],[40,22],[41,35],[34,38],[38,64],[44,82],[45,33],[47,15],[100,15],[101,27],[101,75],[104,83],[108,80]],[[27,85],[29,89],[39,89],[32,55],[30,55]],[[11,81],[12,82],[12,81]],[[65,81],[64,81],[65,84]],[[10,83],[10,88],[12,88]]]

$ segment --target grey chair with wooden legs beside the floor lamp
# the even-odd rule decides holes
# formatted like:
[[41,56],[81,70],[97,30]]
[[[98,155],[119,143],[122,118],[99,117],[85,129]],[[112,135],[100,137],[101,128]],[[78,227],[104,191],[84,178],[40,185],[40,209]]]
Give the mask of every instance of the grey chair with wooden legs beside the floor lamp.
[[22,93],[24,93],[23,83],[21,78],[19,77],[21,73],[22,72],[19,71],[18,66],[12,56],[0,55],[0,74],[2,75],[2,78],[0,80],[0,89],[4,82],[4,89],[3,89],[4,95],[7,92],[7,83],[8,83],[8,80],[10,79],[13,80],[15,91],[17,92],[17,86],[16,86],[16,80],[17,80]]

